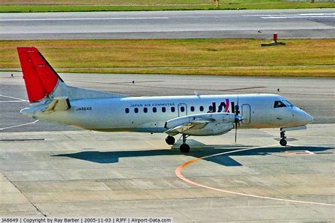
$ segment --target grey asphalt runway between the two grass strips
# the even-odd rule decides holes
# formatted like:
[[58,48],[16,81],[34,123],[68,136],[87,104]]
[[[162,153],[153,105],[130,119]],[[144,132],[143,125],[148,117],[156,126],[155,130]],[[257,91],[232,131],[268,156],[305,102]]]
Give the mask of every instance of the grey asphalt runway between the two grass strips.
[[[258,31],[259,30],[259,31]],[[335,8],[0,13],[0,40],[334,38]]]

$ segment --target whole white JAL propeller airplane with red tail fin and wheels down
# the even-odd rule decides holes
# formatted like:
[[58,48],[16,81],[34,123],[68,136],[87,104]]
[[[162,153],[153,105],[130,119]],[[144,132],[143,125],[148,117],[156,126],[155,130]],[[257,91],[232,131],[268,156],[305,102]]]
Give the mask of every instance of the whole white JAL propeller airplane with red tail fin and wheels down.
[[167,133],[168,145],[182,135],[222,135],[235,128],[305,129],[313,117],[280,95],[199,95],[128,97],[68,86],[35,47],[18,47],[30,107],[21,114],[93,131]]

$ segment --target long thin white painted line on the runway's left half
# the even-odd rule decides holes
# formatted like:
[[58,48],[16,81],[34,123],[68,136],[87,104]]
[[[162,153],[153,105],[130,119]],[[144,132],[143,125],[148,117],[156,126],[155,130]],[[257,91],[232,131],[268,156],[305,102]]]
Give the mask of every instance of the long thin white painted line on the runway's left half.
[[149,20],[168,19],[168,17],[125,17],[125,18],[8,18],[0,21],[69,21],[69,20]]

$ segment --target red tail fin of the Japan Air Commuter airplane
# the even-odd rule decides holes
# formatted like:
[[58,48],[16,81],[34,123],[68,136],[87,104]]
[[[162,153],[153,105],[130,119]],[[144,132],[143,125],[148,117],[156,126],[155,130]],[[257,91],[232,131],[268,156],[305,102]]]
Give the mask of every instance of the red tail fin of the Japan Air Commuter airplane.
[[30,102],[42,100],[57,85],[58,74],[35,47],[18,47],[18,57]]

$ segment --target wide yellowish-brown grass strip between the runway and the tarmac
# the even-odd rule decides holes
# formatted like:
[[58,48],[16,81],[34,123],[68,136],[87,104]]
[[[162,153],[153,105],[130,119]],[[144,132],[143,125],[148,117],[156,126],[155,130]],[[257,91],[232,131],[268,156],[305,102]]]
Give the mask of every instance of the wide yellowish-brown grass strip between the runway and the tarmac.
[[255,39],[0,41],[0,68],[20,67],[35,46],[59,72],[335,77],[335,40]]

